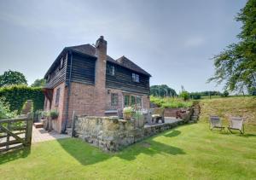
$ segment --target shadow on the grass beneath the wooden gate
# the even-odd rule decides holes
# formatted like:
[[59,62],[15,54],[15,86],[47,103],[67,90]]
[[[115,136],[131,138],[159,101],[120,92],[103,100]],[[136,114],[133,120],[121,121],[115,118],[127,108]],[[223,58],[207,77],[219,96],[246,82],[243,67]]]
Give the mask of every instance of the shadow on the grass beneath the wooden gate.
[[13,151],[0,154],[0,165],[12,160],[26,158],[30,154],[30,152],[31,152],[30,148],[19,148]]

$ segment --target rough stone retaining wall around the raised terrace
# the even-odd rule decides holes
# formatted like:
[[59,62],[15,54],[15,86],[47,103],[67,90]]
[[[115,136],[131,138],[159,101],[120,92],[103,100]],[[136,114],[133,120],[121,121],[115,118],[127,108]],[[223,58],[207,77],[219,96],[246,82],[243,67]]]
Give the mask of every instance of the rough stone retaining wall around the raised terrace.
[[135,120],[125,121],[114,117],[78,116],[74,122],[74,136],[89,142],[104,151],[118,151],[120,148],[153,136],[162,131],[182,125],[183,120],[174,123],[136,127]]

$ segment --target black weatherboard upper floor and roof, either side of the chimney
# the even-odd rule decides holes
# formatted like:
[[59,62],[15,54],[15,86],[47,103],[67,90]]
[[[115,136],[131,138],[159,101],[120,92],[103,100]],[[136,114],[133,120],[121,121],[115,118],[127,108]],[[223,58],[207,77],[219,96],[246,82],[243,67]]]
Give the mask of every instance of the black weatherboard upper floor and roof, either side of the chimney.
[[[44,78],[46,88],[54,88],[61,82],[95,84],[95,47],[90,44],[67,47],[61,51]],[[72,68],[70,71],[70,68]],[[127,92],[149,94],[151,75],[125,56],[113,60],[107,55],[106,87]]]

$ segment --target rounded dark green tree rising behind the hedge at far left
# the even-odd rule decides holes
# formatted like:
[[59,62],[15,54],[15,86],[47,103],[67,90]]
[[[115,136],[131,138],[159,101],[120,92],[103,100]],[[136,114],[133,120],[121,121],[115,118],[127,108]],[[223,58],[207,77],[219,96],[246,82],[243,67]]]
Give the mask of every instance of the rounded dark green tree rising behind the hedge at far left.
[[26,84],[26,78],[23,73],[16,71],[7,71],[3,75],[0,75],[0,87],[15,85],[15,84]]

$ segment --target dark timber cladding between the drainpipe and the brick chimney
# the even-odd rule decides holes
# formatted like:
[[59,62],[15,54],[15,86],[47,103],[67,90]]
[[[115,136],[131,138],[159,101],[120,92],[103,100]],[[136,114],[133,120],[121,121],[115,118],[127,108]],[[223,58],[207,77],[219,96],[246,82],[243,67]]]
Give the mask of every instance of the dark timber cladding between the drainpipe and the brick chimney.
[[[70,61],[67,66],[67,76],[69,76]],[[81,55],[73,52],[73,63],[71,72],[71,81],[83,84],[94,84],[95,82],[95,64],[96,58],[90,55]]]

